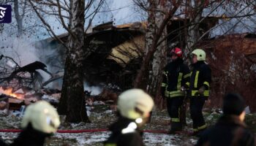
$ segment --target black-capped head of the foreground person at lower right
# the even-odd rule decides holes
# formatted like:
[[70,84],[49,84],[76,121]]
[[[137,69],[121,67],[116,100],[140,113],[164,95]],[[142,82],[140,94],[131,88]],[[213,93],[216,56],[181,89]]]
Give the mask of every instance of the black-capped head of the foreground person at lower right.
[[245,106],[243,97],[238,93],[227,93],[223,98],[223,115],[236,115],[243,121]]

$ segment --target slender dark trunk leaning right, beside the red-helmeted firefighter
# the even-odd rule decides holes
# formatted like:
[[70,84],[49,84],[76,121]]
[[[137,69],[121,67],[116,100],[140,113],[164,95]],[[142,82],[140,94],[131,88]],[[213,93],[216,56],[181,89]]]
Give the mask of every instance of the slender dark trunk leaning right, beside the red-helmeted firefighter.
[[[180,1],[177,3],[172,3],[173,7],[168,9],[158,9],[161,10],[163,14],[163,18],[161,18],[161,21],[159,21],[159,24],[156,28],[156,16],[155,13],[157,12],[157,1],[155,0],[148,0],[149,2],[149,12],[148,12],[148,30],[147,30],[147,36],[146,36],[146,52],[143,58],[143,63],[141,64],[140,70],[136,76],[135,79],[135,88],[142,88],[143,90],[146,90],[147,86],[149,89],[148,79],[149,79],[149,70],[152,69],[151,60],[153,59],[154,53],[157,50],[157,43],[159,42],[159,39],[162,37],[163,31],[165,31],[165,28],[167,26],[167,23],[169,22],[170,18],[173,18],[173,14],[176,12],[180,5]],[[159,4],[165,4],[166,0],[159,0]],[[174,1],[173,1],[174,2]],[[161,54],[161,53],[157,53]],[[159,58],[159,57],[157,57]],[[161,67],[160,67],[161,68]],[[159,69],[159,67],[158,67]],[[159,73],[159,71],[157,71]],[[153,74],[152,74],[153,75]],[[160,81],[159,81],[160,82]],[[151,89],[150,89],[151,90]],[[158,90],[158,89],[157,89]],[[149,93],[154,93],[154,91],[149,91]],[[156,90],[155,90],[156,91]]]

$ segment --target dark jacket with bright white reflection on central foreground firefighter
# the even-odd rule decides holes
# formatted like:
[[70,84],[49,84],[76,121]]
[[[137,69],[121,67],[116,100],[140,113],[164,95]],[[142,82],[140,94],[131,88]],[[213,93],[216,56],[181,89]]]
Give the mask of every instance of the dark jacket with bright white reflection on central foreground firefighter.
[[142,132],[132,126],[134,120],[118,118],[116,123],[110,126],[112,134],[104,142],[105,146],[144,146]]

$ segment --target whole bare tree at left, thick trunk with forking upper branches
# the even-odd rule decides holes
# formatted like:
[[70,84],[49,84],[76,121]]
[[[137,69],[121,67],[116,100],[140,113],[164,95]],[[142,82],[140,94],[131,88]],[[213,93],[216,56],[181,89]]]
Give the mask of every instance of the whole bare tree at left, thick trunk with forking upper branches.
[[[66,61],[64,66],[64,79],[61,91],[61,99],[58,112],[67,115],[66,121],[72,123],[89,122],[86,114],[85,96],[83,92],[83,61],[90,51],[86,50],[84,44],[85,32],[91,25],[104,0],[99,0],[97,7],[94,7],[94,0],[71,0],[71,1],[32,1],[29,3],[37,13],[38,17],[45,24],[45,28],[66,47]],[[48,6],[48,9],[38,9],[39,5]],[[42,18],[42,14],[54,15],[61,23],[61,26],[68,33],[67,43],[60,39],[53,31],[53,26]],[[89,20],[85,28],[85,20]]]

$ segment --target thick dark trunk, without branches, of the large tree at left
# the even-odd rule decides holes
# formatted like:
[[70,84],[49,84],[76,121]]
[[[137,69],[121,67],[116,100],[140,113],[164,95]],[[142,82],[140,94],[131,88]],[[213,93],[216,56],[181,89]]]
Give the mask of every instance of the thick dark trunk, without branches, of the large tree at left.
[[58,111],[66,114],[67,122],[89,122],[86,113],[85,96],[83,92],[83,55],[84,55],[84,12],[85,1],[70,1],[69,28],[72,34],[68,38],[68,50],[65,63],[64,80],[61,91],[61,101]]

